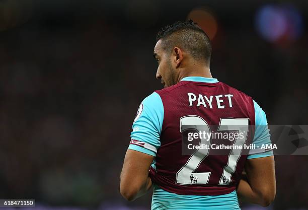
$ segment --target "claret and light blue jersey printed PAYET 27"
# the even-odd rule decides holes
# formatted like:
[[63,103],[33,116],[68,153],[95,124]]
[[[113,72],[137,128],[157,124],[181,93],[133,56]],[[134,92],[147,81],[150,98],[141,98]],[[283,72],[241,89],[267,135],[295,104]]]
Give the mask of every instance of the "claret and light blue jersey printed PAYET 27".
[[[256,149],[248,155],[230,150],[232,155],[216,156],[211,149],[182,155],[181,131],[192,124],[207,132],[209,125],[241,125],[238,131],[247,134],[235,144]],[[245,161],[272,156],[260,149],[270,143],[266,115],[251,97],[213,78],[186,77],[142,101],[128,149],[155,157],[152,209],[240,209],[236,187]]]

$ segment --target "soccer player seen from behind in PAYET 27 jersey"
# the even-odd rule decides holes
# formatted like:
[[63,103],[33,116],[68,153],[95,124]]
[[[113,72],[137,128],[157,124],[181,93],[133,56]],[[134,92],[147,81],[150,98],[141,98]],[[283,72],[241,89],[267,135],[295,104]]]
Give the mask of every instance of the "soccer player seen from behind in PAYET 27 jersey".
[[[151,209],[160,210],[240,209],[238,196],[262,206],[274,199],[273,152],[258,148],[271,143],[265,113],[251,97],[212,78],[210,56],[209,38],[192,21],[176,22],[158,33],[156,78],[165,88],[146,97],[134,119],[120,177],[120,192],[127,200],[152,186]],[[234,144],[251,142],[257,148],[247,154],[229,150],[211,155],[210,148],[182,155],[183,132],[209,133],[209,125],[246,131],[244,140]]]

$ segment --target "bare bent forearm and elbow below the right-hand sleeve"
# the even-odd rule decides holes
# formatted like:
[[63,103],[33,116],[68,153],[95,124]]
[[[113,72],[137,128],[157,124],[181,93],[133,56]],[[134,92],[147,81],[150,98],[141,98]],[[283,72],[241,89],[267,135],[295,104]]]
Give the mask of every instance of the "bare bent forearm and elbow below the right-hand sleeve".
[[247,160],[245,172],[237,189],[239,198],[268,206],[276,194],[274,156]]

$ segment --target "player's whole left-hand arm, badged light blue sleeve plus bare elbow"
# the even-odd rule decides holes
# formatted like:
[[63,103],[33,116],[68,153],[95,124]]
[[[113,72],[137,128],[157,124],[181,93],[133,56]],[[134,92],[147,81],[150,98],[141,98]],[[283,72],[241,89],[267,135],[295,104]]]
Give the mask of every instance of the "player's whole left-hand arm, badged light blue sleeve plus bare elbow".
[[163,118],[162,99],[158,93],[152,93],[139,106],[120,176],[120,193],[127,200],[140,197],[152,186],[148,173],[161,146]]

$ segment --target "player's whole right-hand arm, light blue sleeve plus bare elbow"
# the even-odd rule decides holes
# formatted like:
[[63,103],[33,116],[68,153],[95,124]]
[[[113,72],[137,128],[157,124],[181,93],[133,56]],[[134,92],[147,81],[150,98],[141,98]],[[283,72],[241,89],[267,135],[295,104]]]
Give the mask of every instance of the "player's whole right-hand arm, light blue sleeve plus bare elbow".
[[[258,148],[271,144],[265,112],[255,102],[256,129],[253,144]],[[276,180],[273,151],[251,150],[245,163],[246,175],[240,180],[238,195],[241,200],[262,206],[275,198]]]

